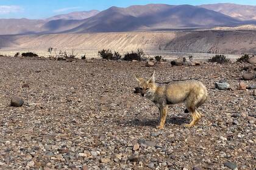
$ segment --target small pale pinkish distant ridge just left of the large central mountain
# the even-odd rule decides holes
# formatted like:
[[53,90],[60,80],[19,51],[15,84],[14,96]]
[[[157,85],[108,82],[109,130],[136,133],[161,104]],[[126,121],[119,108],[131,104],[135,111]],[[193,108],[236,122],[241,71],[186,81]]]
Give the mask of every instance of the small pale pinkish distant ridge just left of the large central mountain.
[[80,19],[86,19],[90,18],[91,16],[94,16],[98,14],[98,10],[90,10],[90,11],[84,11],[84,12],[71,12],[67,14],[60,14],[52,16],[51,18],[47,18],[47,21],[52,20],[58,20],[58,19],[74,19],[74,20],[80,20]]

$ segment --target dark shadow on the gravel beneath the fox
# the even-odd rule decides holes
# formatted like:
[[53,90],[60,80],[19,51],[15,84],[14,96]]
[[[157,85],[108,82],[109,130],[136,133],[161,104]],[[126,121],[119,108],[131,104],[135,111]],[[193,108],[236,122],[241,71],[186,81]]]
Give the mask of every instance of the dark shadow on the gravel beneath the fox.
[[[190,121],[188,117],[171,116],[166,118],[165,124],[181,125],[184,123],[188,123],[188,121]],[[140,120],[138,118],[134,118],[133,120],[127,120],[123,122],[120,121],[119,123],[125,124],[126,126],[156,126],[159,123],[159,120],[149,118],[142,118]]]

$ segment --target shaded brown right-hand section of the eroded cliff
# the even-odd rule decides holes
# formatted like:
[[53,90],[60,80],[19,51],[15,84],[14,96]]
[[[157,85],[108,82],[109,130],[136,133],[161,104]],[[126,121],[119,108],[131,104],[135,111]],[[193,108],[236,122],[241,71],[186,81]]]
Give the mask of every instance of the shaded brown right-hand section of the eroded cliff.
[[255,53],[255,30],[205,30],[179,33],[165,50],[204,53]]

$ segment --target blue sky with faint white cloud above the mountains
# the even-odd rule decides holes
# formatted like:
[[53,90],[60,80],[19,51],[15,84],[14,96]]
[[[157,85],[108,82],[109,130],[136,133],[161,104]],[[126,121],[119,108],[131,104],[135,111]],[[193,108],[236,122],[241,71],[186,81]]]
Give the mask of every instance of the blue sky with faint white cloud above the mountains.
[[169,1],[144,1],[144,0],[0,0],[0,18],[29,18],[41,19],[61,13],[84,10],[105,10],[108,7],[128,7],[129,5],[144,4],[215,4],[235,3],[256,5],[256,0],[169,0]]

